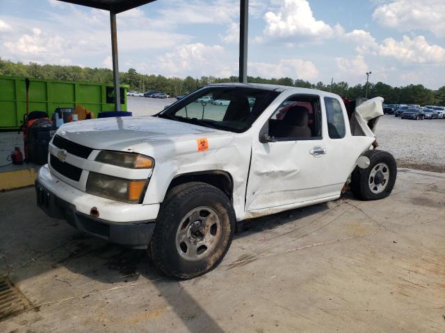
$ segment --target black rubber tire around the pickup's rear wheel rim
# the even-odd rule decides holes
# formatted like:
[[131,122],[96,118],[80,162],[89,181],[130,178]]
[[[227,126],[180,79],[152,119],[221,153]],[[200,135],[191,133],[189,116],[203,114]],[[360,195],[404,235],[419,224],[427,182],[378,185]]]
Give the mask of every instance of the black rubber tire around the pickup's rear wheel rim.
[[[377,149],[366,151],[366,153],[363,155],[369,158],[370,164],[366,169],[360,169],[358,166],[355,167],[355,170],[351,175],[351,191],[353,191],[354,196],[360,200],[379,200],[386,198],[389,196],[389,194],[391,194],[394,184],[396,183],[396,160],[394,160],[393,155],[387,151],[379,151]],[[389,179],[385,181],[385,187],[382,189],[382,191],[380,191],[380,193],[375,193],[373,191],[375,188],[371,190],[371,187],[374,187],[375,184],[371,182],[373,178],[370,176],[371,172],[373,172],[376,166],[379,165],[381,167],[382,164],[387,166],[387,171],[389,171]]]

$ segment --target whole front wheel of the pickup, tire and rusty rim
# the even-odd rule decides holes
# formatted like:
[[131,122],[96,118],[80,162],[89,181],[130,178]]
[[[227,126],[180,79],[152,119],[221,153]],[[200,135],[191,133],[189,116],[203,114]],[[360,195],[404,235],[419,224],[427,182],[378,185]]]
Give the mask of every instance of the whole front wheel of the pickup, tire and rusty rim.
[[232,203],[203,182],[174,187],[165,196],[149,251],[156,268],[190,279],[211,271],[227,253],[235,230]]

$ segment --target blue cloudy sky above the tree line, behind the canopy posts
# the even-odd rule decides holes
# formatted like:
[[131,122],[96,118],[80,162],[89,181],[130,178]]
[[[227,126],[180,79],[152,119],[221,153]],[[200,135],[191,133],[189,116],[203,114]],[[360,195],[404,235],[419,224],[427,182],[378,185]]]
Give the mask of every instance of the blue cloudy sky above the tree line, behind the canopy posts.
[[[158,0],[118,15],[120,69],[236,75],[238,0]],[[248,75],[445,85],[444,0],[250,0]],[[0,56],[111,67],[109,16],[56,0],[0,0]]]

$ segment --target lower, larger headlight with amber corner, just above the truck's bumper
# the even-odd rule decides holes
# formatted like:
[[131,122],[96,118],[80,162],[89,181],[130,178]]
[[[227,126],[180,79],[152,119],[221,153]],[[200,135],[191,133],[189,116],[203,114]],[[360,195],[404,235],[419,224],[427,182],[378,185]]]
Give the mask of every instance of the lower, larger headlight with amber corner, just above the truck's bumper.
[[128,180],[90,171],[86,192],[124,203],[140,203],[147,184],[147,180]]

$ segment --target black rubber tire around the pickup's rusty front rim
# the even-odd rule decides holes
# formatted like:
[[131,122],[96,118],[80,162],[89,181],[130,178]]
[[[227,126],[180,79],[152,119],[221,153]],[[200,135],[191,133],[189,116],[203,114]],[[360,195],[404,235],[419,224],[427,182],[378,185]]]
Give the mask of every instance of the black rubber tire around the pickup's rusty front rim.
[[[182,256],[179,254],[177,232],[180,232],[179,228],[192,228],[188,227],[191,222],[184,222],[183,219],[198,207],[210,207],[216,212],[220,221],[220,234],[205,257],[190,261],[184,259],[185,252]],[[186,223],[187,228],[180,227]],[[235,226],[236,217],[232,203],[223,191],[203,182],[178,185],[168,191],[156,219],[156,228],[148,249],[154,266],[165,275],[181,279],[196,278],[207,273],[218,266],[229,250]],[[209,230],[210,228],[207,232],[210,232]]]

